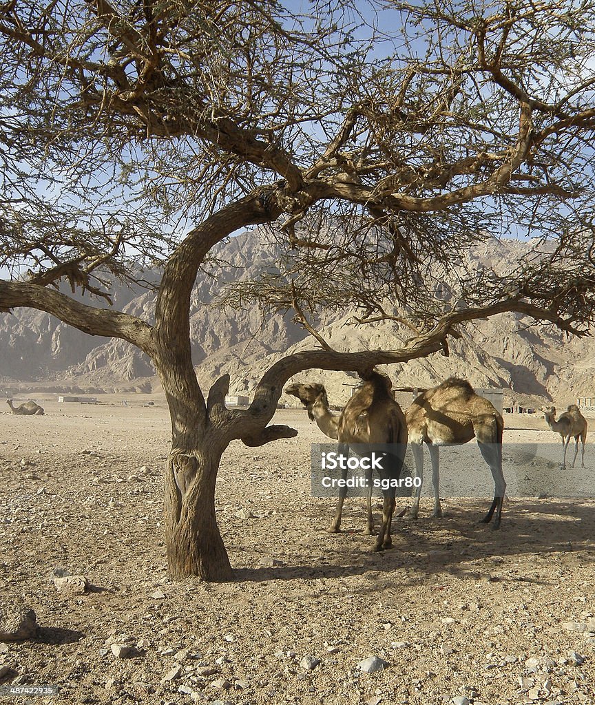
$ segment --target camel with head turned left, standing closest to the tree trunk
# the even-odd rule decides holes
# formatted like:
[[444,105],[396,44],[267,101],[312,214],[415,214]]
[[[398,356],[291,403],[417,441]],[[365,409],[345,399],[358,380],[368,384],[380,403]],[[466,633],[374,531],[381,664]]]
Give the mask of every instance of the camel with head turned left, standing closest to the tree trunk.
[[[398,403],[393,399],[391,380],[388,376],[373,371],[364,384],[355,392],[341,414],[332,414],[326,390],[321,384],[290,384],[286,393],[297,397],[305,406],[310,419],[317,422],[319,429],[331,439],[337,439],[340,453],[347,455],[352,444],[395,444],[394,453],[386,455],[386,463],[379,474],[381,479],[398,479],[405,459],[407,447],[407,424]],[[362,448],[358,448],[360,455]],[[343,470],[343,479],[347,469]],[[372,471],[367,472],[367,534],[374,531],[372,517]],[[395,509],[395,488],[383,489],[384,503],[382,523],[374,551],[381,551],[392,546],[391,522]],[[341,527],[343,502],[347,488],[339,490],[337,510],[329,532],[336,533]]]

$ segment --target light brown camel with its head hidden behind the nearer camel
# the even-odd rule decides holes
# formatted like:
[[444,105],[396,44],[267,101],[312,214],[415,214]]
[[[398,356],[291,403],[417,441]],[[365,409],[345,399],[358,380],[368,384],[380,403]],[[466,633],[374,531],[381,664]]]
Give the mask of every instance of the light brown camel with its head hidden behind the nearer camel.
[[[506,483],[502,473],[502,432],[504,422],[493,405],[478,396],[469,382],[449,377],[442,384],[420,394],[405,412],[409,442],[415,460],[415,472],[423,482],[424,450],[426,443],[432,464],[434,484],[434,516],[442,516],[440,494],[439,446],[455,446],[473,438],[481,455],[490,467],[496,486],[493,502],[482,520],[488,523],[496,510],[494,529],[500,526],[502,504]],[[417,495],[407,517],[416,518],[419,512],[419,496],[422,484],[417,486]]]

